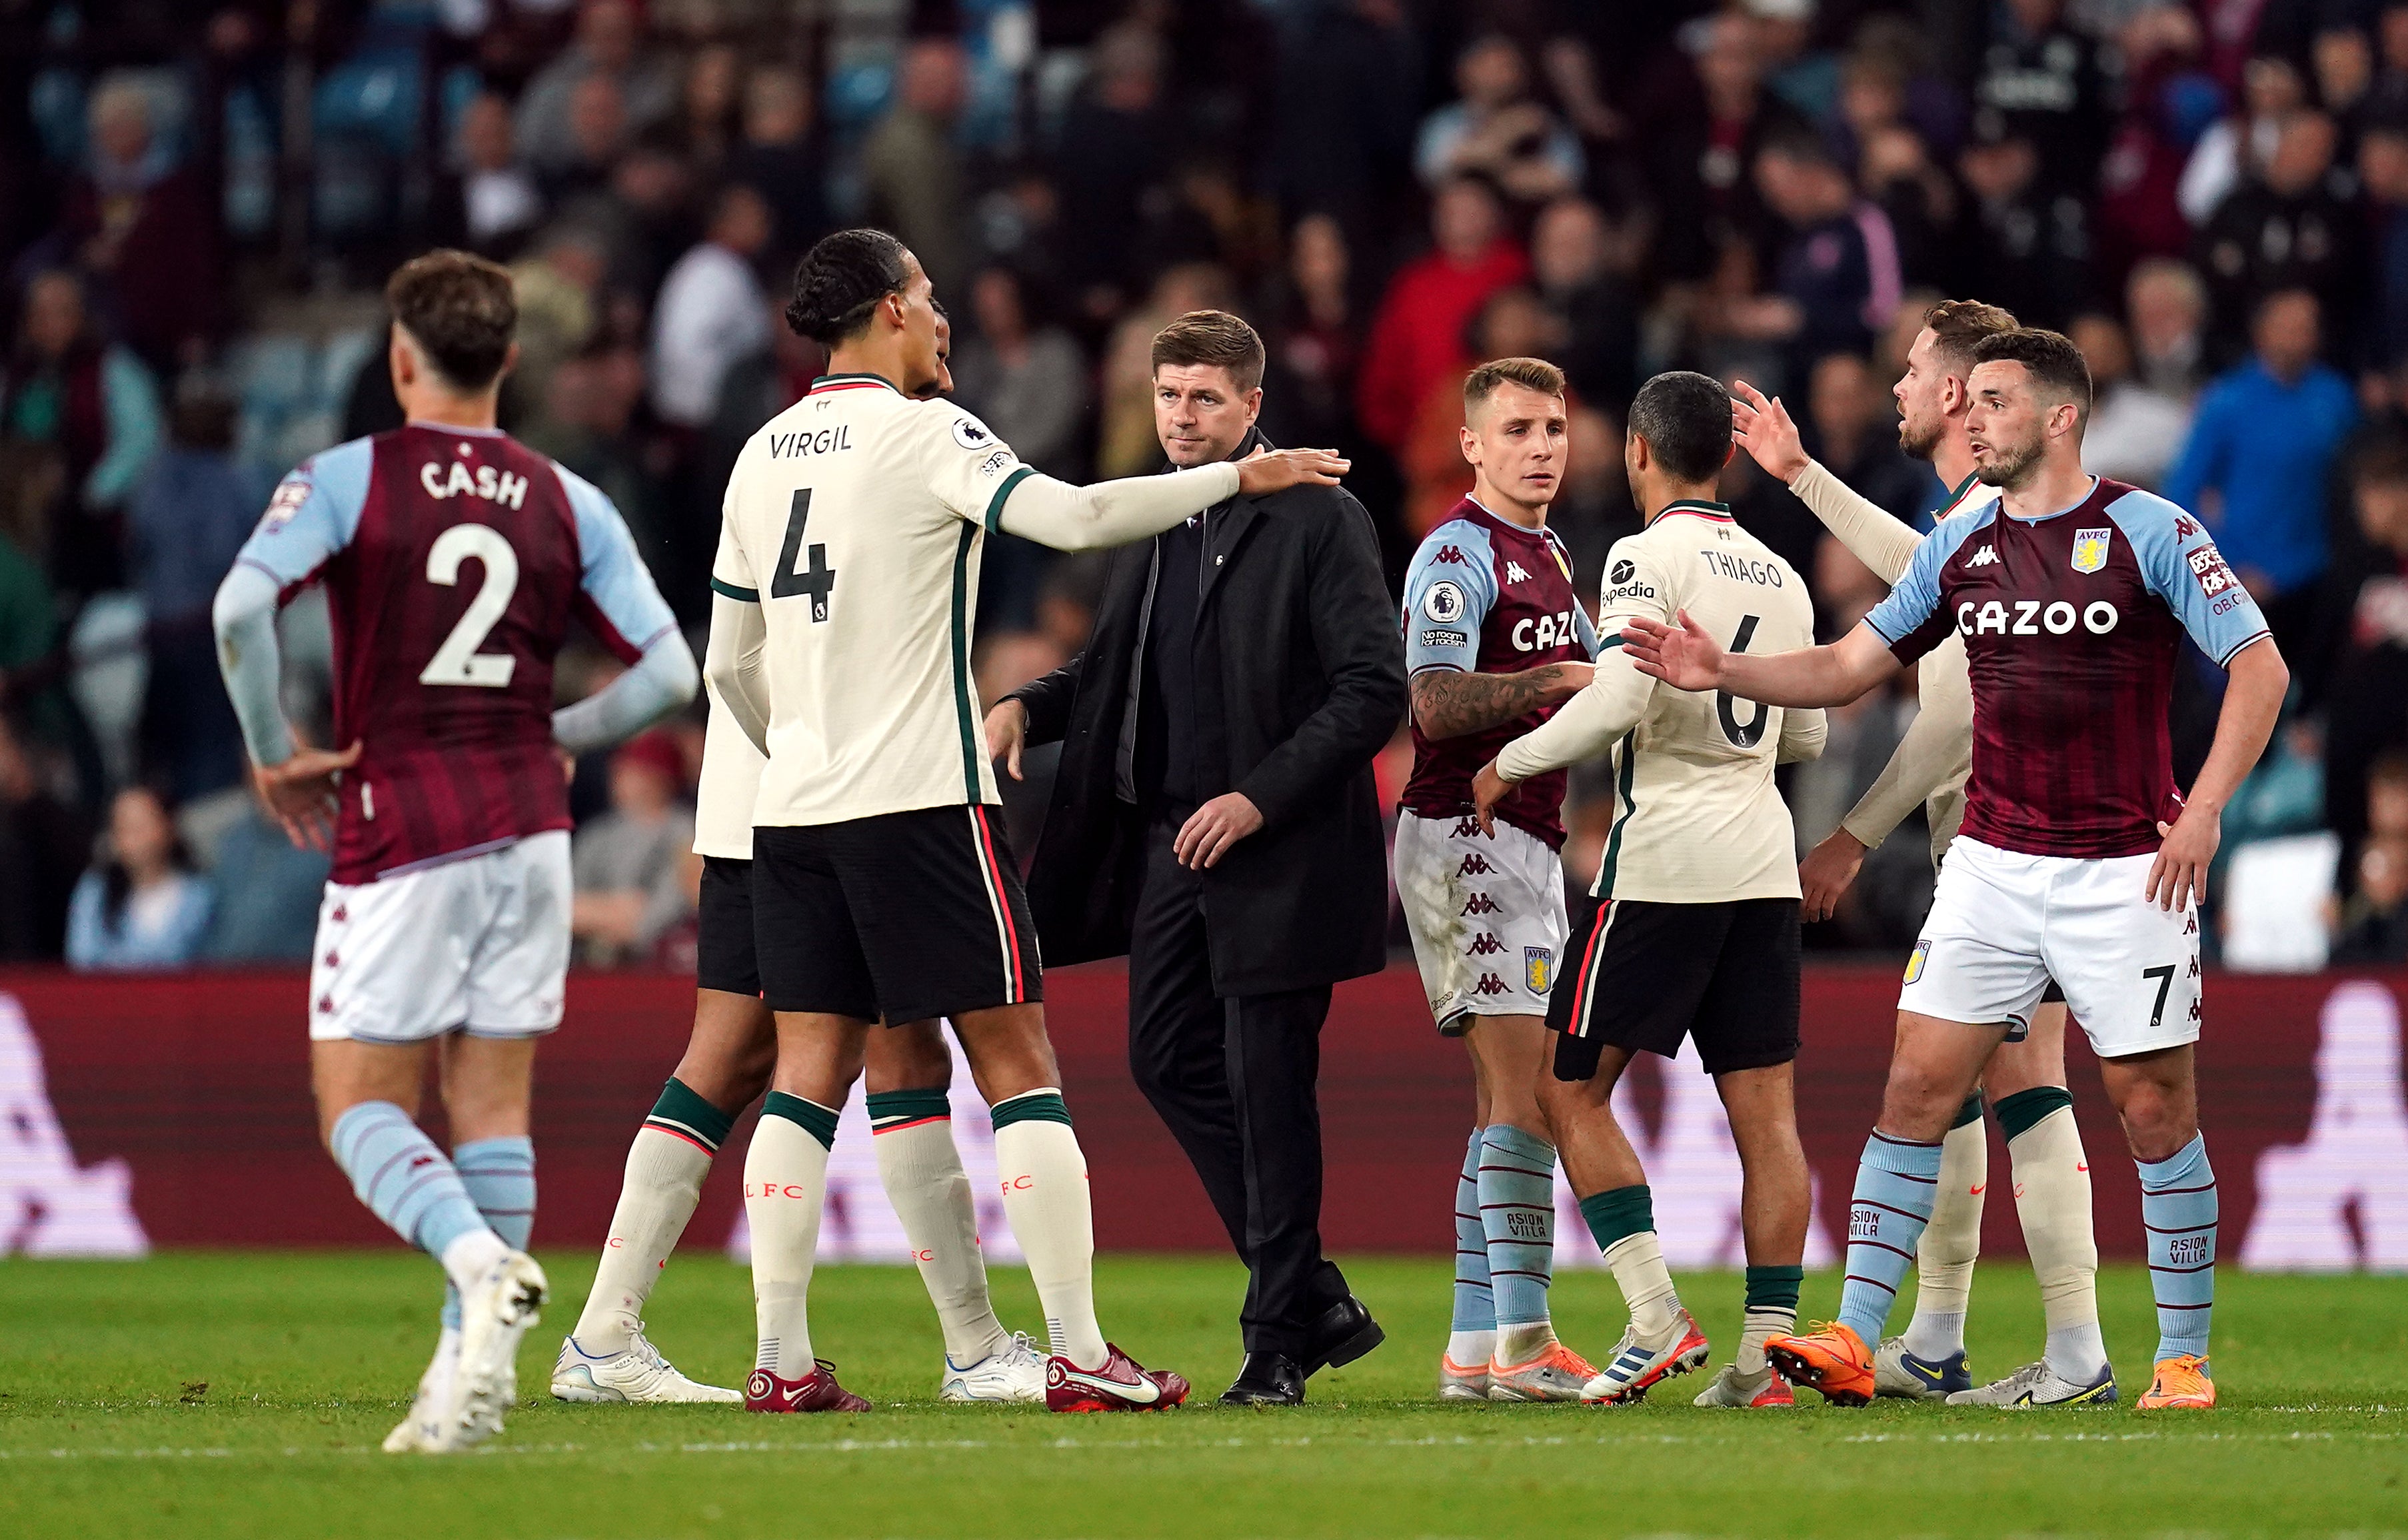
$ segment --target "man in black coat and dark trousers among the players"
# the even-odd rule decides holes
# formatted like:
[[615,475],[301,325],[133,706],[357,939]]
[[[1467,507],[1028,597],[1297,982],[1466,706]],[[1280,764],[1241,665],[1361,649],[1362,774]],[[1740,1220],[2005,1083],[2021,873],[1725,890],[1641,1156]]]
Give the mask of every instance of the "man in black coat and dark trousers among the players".
[[[1262,363],[1235,315],[1163,327],[1170,464],[1264,448]],[[1226,1403],[1296,1405],[1382,1340],[1322,1256],[1315,1080],[1329,987],[1387,962],[1370,763],[1404,710],[1370,515],[1298,486],[1115,551],[1086,650],[987,712],[1014,777],[1062,744],[1028,873],[1045,958],[1129,955],[1129,1068],[1252,1273]]]

